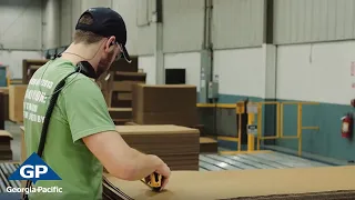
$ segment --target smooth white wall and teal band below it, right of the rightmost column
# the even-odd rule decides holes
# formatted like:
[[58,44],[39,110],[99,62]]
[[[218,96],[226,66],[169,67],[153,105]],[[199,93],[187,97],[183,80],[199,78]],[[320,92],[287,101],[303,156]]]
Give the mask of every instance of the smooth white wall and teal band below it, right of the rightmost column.
[[[277,100],[316,101],[320,106],[304,106],[304,126],[320,126],[303,131],[303,150],[344,160],[354,160],[355,143],[341,134],[341,118],[353,112],[354,98],[352,63],[355,42],[278,46]],[[285,134],[296,134],[296,108],[284,110]],[[278,140],[277,144],[296,149],[294,140]]]

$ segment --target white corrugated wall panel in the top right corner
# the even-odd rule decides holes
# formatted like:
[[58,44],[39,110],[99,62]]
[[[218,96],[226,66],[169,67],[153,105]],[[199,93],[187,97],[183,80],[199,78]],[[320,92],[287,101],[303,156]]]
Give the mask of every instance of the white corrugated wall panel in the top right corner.
[[277,44],[355,38],[355,0],[275,0]]

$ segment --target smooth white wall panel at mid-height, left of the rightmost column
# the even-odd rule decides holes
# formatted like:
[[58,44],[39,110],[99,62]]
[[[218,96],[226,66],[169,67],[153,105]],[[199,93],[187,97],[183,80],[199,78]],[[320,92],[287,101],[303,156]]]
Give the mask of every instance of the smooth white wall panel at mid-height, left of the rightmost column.
[[219,76],[221,94],[264,98],[265,67],[261,47],[217,50],[213,67],[213,74]]

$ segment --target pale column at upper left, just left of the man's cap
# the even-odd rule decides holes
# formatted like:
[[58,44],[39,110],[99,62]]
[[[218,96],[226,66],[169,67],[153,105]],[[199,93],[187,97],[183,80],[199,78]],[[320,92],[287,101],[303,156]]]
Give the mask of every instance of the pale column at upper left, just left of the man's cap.
[[60,47],[60,0],[44,0],[43,48]]

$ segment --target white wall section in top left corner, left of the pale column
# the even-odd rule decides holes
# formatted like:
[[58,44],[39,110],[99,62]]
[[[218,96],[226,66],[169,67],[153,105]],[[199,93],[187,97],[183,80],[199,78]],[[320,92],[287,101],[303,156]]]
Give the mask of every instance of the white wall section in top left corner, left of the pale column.
[[23,59],[41,59],[42,1],[0,1],[0,63],[12,79],[22,78]]

